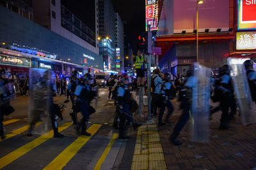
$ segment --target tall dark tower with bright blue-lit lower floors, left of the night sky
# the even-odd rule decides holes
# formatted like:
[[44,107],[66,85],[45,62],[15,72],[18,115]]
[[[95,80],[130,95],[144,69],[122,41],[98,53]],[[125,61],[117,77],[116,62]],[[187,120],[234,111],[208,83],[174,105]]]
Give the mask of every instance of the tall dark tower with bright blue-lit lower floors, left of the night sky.
[[99,0],[99,38],[104,70],[116,71],[115,11],[111,0]]

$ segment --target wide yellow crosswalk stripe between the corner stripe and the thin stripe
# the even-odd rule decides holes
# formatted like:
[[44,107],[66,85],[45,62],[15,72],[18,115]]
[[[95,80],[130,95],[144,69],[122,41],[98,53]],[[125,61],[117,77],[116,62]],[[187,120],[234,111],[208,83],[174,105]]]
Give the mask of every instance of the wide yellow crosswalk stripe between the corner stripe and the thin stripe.
[[[87,132],[91,133],[92,136],[95,134],[101,125],[93,124],[88,128]],[[50,164],[48,164],[44,169],[62,169],[69,162],[74,155],[83,147],[84,144],[89,141],[92,136],[79,136],[76,141],[69,145],[63,152],[58,155]]]

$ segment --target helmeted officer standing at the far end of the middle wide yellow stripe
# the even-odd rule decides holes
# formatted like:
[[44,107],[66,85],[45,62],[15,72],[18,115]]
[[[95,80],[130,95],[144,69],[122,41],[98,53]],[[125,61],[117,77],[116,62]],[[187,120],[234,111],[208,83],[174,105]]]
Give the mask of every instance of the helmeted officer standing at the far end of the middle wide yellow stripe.
[[[91,136],[86,132],[88,120],[90,119],[90,102],[96,95],[93,94],[92,85],[93,77],[90,73],[83,76],[83,80],[77,85],[74,92],[74,106],[76,106],[82,113],[83,118],[81,120],[81,134],[85,136]],[[78,129],[79,130],[79,129]],[[77,131],[79,133],[79,131]]]

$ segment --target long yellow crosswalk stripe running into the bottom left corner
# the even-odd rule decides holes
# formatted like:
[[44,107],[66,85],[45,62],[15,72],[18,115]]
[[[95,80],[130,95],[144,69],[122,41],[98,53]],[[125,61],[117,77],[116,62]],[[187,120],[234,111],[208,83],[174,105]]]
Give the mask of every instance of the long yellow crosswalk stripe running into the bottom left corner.
[[[59,132],[63,131],[64,129],[67,129],[67,127],[69,127],[70,125],[72,125],[71,122],[67,122],[67,123],[62,124],[59,127]],[[51,130],[51,131],[49,131],[45,134],[42,134],[42,136],[36,138],[35,140],[27,143],[24,146],[21,146],[17,150],[9,153],[8,155],[5,155],[4,157],[1,157],[1,159],[0,159],[0,169],[2,169],[4,166],[7,166],[8,164],[13,162],[14,160],[18,159],[22,155],[24,155],[24,154],[28,153],[29,151],[33,150],[33,148],[35,148],[36,146],[41,145],[42,143],[44,143],[48,139],[51,139],[52,136],[53,136],[53,130]]]

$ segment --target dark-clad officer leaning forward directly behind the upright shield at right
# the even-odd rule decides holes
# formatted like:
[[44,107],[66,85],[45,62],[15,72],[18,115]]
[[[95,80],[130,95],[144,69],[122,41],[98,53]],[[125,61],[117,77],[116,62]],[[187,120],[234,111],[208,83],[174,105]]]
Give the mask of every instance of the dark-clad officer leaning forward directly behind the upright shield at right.
[[195,81],[195,77],[192,76],[192,72],[187,72],[187,78],[184,81],[183,89],[180,90],[180,93],[182,93],[182,99],[179,99],[181,102],[180,108],[182,108],[182,115],[180,116],[179,122],[175,125],[173,132],[169,138],[170,142],[173,143],[173,145],[182,145],[182,141],[179,141],[177,137],[180,134],[180,131],[183,129],[183,127],[186,125],[186,123],[189,120],[189,111],[191,110],[191,99],[192,99],[192,88],[193,88],[193,82]]

